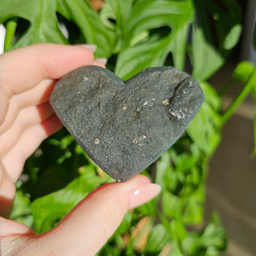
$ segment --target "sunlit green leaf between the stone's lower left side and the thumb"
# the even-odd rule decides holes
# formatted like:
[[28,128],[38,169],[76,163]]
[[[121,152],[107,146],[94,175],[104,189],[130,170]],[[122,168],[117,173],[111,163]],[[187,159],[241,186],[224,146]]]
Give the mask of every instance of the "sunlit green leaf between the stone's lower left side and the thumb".
[[56,226],[81,199],[108,180],[98,177],[94,167],[85,166],[81,175],[65,188],[36,199],[32,203],[36,232],[42,233]]

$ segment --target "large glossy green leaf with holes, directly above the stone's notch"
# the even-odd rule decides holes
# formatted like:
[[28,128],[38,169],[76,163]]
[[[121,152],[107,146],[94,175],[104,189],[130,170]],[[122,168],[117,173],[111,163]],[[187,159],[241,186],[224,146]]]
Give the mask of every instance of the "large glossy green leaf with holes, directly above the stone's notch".
[[183,69],[192,21],[191,1],[136,1],[122,31],[124,39],[115,73],[126,80],[145,68],[162,66],[170,51],[175,66]]

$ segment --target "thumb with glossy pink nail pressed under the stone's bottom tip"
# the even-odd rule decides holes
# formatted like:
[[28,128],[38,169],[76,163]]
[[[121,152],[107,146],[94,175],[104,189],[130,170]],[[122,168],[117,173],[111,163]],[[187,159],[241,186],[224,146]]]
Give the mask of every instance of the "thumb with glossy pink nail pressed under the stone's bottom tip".
[[149,201],[160,191],[161,187],[150,183],[144,175],[101,186],[79,202],[53,230],[42,234],[38,242],[48,250],[44,255],[97,254],[127,210]]

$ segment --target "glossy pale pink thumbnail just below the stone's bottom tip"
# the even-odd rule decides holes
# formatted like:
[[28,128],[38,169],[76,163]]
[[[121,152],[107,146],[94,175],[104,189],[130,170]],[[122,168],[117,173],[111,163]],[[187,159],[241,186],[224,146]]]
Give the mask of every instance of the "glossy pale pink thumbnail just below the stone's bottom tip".
[[137,185],[129,192],[129,209],[150,201],[161,191],[161,186],[154,183]]

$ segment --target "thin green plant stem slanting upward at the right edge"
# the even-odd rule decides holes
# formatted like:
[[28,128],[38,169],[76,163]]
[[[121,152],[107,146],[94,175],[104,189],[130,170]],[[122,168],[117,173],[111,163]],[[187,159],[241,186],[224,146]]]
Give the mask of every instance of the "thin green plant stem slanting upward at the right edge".
[[234,101],[230,104],[225,113],[223,113],[222,125],[225,124],[225,122],[228,121],[228,119],[234,114],[234,111],[236,111],[238,106],[245,100],[253,86],[256,86],[256,68],[254,68],[252,74],[250,74],[249,79],[239,93],[238,97],[234,99]]

